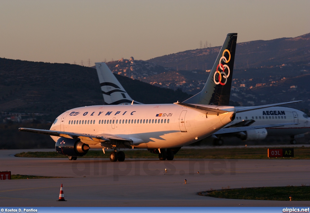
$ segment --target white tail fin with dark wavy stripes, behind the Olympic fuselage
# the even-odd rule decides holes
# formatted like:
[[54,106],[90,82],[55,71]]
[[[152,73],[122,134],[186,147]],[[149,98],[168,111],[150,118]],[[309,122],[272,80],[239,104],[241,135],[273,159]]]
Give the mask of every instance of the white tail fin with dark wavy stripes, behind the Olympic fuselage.
[[[131,104],[133,99],[128,95],[124,87],[117,80],[107,64],[95,63],[104,99],[104,105]],[[134,101],[135,104],[141,104]]]

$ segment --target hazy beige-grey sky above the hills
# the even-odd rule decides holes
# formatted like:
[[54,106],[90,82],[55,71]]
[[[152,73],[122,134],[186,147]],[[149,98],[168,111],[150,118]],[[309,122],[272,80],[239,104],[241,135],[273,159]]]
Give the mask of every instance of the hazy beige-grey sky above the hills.
[[[0,57],[87,64],[310,33],[310,0],[0,0]],[[91,64],[93,65],[93,64]]]

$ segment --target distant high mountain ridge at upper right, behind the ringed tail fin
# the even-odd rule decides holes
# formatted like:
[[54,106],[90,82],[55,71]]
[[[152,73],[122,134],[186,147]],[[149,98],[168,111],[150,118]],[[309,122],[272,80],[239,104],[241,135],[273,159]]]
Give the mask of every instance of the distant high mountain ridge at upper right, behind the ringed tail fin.
[[[156,57],[154,62],[171,69],[212,69],[221,47],[188,50]],[[308,64],[310,61],[310,33],[295,38],[277,38],[269,41],[237,43],[235,68],[248,69],[281,64]]]

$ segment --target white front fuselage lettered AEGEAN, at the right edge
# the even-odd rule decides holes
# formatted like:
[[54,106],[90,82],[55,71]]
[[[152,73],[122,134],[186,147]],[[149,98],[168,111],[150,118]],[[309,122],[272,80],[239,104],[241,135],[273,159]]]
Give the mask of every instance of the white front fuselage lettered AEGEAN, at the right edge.
[[[238,109],[238,107],[236,107]],[[303,112],[286,107],[270,107],[256,109],[242,113],[236,113],[236,118],[228,126],[242,120],[255,120],[252,126],[298,123],[297,125],[279,126],[267,128],[268,135],[299,135],[310,131],[310,118]]]

